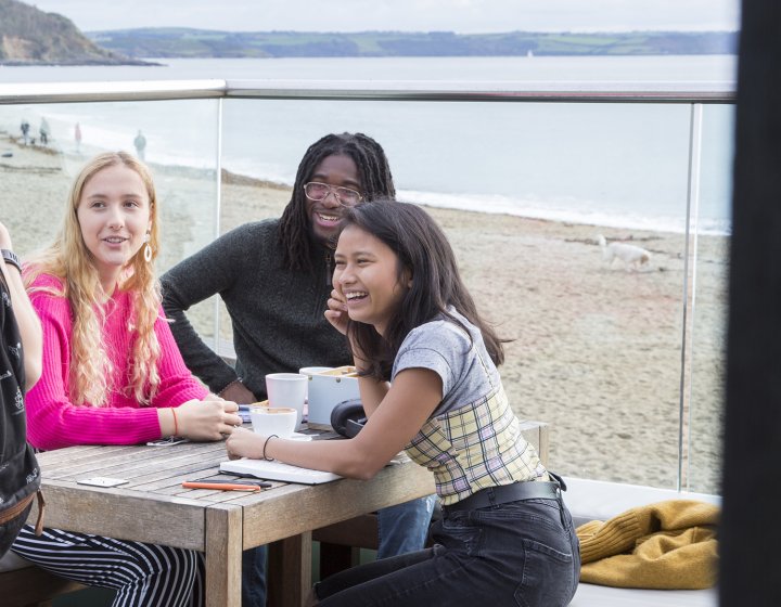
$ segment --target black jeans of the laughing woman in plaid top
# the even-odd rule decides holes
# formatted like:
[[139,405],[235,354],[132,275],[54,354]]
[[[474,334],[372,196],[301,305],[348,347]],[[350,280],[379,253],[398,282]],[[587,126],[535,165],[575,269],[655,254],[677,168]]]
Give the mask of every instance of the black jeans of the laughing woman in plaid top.
[[561,499],[445,513],[433,548],[370,563],[315,586],[322,607],[563,607],[580,552]]

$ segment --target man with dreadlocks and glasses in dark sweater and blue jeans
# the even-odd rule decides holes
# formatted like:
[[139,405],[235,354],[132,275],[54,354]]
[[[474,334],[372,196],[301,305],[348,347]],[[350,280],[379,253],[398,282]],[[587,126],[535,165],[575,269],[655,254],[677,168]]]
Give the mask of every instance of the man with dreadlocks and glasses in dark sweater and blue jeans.
[[[268,373],[341,366],[351,359],[323,312],[344,208],[395,195],[385,152],[361,133],[329,134],[307,150],[280,219],[246,223],[180,262],[162,279],[163,306],[184,362],[226,400],[266,399]],[[190,306],[219,294],[233,324],[235,369],[195,333]],[[379,513],[379,557],[423,547],[433,496]],[[265,551],[244,554],[242,604],[265,602]]]

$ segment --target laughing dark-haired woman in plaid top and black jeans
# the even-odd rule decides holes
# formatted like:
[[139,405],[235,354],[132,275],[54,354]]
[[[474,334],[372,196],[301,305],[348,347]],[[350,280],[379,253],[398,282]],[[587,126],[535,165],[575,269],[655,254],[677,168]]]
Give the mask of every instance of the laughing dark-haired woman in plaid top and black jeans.
[[236,428],[231,459],[348,478],[398,453],[434,474],[433,548],[336,573],[324,606],[569,604],[580,557],[563,481],[524,440],[497,371],[501,340],[477,313],[436,222],[415,205],[345,211],[325,317],[346,335],[368,422],[351,439],[296,442]]

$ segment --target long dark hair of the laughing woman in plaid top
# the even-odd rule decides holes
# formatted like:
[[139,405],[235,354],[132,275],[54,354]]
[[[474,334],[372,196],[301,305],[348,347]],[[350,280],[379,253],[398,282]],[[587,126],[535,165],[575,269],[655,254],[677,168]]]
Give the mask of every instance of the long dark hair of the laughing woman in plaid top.
[[504,340],[477,313],[474,299],[461,281],[450,243],[427,212],[413,204],[377,199],[349,209],[343,220],[343,227],[348,225],[373,235],[398,256],[399,281],[406,272],[412,277],[412,286],[388,322],[384,336],[372,325],[348,323],[348,335],[368,359],[367,375],[389,379],[405,337],[438,314],[465,331],[463,323],[448,311],[449,306],[479,330],[494,363],[500,365],[504,361]]

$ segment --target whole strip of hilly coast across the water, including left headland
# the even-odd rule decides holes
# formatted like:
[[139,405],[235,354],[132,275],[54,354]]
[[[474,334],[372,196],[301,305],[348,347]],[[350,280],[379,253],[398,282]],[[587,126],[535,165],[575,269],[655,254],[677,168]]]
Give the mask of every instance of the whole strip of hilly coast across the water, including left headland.
[[[143,64],[139,57],[340,57],[730,54],[727,31],[216,31],[141,28],[86,36],[66,17],[0,0],[0,64]],[[129,59],[135,57],[135,59]]]

